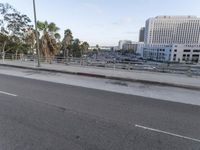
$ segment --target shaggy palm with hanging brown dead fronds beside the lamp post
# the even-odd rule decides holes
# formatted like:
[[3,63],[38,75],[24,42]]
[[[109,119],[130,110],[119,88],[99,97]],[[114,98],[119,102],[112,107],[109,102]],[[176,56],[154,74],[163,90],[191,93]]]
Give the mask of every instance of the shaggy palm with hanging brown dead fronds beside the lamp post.
[[59,30],[59,28],[56,26],[55,23],[48,23],[47,21],[38,21],[37,26],[40,32],[43,32],[40,40],[41,53],[44,56],[45,60],[48,60],[48,58],[50,58],[49,60],[51,63],[53,57],[58,52],[56,38],[58,38],[57,31]]

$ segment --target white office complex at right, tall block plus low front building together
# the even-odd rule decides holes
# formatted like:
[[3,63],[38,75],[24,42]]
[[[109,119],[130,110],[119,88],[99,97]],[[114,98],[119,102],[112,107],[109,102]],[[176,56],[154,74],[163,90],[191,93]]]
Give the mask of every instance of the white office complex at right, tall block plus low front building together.
[[198,63],[199,45],[200,18],[198,17],[158,16],[146,21],[144,59]]

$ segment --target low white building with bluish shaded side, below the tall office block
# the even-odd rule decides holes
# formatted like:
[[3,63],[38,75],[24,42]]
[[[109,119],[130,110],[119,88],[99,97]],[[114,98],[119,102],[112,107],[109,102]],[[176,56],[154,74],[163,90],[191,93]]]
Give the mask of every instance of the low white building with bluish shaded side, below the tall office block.
[[179,63],[200,63],[200,44],[145,45],[147,60]]

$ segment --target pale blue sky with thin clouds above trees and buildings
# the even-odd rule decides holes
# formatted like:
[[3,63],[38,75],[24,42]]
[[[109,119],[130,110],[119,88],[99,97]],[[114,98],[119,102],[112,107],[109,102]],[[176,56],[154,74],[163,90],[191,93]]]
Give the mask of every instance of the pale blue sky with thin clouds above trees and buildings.
[[[200,16],[200,0],[35,0],[37,19],[55,22],[63,36],[71,29],[74,38],[90,45],[118,45],[119,40],[138,41],[139,30],[150,17]],[[32,0],[1,0],[33,20]]]

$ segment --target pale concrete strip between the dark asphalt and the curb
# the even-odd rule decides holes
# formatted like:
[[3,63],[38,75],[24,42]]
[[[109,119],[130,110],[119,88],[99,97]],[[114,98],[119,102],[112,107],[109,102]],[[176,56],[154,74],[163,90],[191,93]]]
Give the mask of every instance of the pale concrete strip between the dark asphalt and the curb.
[[200,106],[198,90],[3,66],[0,74]]

